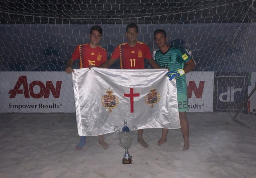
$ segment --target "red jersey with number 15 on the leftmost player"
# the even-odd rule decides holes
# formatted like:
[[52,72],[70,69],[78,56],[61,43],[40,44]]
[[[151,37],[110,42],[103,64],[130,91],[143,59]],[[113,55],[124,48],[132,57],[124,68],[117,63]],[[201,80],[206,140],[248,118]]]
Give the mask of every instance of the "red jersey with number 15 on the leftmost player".
[[104,48],[97,46],[91,48],[88,43],[76,46],[71,58],[79,58],[79,68],[87,68],[89,65],[99,66],[107,61],[107,52]]

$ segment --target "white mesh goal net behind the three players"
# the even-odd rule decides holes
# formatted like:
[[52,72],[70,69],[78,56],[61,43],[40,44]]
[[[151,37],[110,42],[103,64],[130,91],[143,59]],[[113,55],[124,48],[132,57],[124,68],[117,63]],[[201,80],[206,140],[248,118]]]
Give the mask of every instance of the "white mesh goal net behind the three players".
[[[1,91],[0,112],[33,112],[24,104],[15,104],[17,97],[36,102],[54,93],[58,96],[60,79],[54,78],[63,78],[59,75],[74,48],[89,42],[91,26],[102,27],[100,45],[110,57],[118,44],[126,42],[126,25],[136,23],[138,41],[145,42],[152,53],[157,49],[154,30],[162,28],[168,43],[185,48],[196,62],[196,69],[186,74],[189,112],[239,112],[236,120],[250,121],[247,125],[255,127],[256,92],[248,99],[256,81],[255,6],[254,0],[1,1],[0,73],[5,90]],[[119,61],[110,68],[119,68]],[[151,67],[146,63],[145,68]],[[44,82],[35,83],[40,80]],[[24,84],[32,85],[32,91]],[[48,95],[41,92],[44,87]],[[10,90],[17,90],[12,99]],[[73,97],[63,82],[61,90],[65,97]],[[60,108],[61,102],[68,102],[65,97],[52,99],[58,99]],[[53,104],[51,110],[36,112],[74,112],[72,104],[62,104],[57,111]]]

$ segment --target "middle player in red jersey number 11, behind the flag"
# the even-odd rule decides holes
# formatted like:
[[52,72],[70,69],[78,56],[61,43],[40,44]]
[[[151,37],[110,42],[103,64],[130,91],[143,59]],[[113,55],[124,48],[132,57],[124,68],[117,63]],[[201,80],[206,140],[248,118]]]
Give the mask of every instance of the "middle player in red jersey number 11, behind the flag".
[[[117,59],[120,59],[121,69],[144,69],[144,58],[153,68],[161,68],[152,58],[148,45],[137,41],[138,26],[128,24],[126,27],[127,42],[116,46],[111,58],[101,64],[99,67],[108,68]],[[147,148],[148,144],[142,138],[143,129],[138,130],[138,142]]]

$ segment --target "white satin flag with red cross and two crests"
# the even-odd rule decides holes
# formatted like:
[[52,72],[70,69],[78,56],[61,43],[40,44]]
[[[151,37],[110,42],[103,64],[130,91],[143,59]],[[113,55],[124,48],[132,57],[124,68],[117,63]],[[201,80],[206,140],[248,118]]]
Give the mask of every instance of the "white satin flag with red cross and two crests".
[[166,69],[76,69],[72,73],[80,136],[122,128],[180,128],[176,80]]

